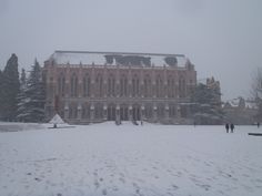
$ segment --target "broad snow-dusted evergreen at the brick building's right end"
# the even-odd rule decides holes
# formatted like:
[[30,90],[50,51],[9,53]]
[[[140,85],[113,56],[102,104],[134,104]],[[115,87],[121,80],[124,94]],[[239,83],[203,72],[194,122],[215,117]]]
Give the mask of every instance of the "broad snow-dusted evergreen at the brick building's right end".
[[191,107],[198,124],[221,124],[223,112],[220,101],[220,91],[205,84],[198,84],[193,95]]

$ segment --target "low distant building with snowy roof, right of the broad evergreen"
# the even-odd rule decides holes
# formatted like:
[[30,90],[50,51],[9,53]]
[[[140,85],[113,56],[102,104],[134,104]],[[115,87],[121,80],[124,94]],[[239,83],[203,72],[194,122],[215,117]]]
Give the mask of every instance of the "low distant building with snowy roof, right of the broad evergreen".
[[234,124],[253,124],[255,123],[255,114],[258,107],[254,101],[238,97],[228,101],[223,105],[225,121]]

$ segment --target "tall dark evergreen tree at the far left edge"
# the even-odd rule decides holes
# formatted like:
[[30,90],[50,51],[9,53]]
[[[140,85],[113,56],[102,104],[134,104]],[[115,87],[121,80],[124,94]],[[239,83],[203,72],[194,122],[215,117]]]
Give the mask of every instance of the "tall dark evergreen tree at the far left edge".
[[17,117],[17,96],[19,93],[18,58],[12,54],[8,60],[2,75],[2,117],[6,121],[14,121]]

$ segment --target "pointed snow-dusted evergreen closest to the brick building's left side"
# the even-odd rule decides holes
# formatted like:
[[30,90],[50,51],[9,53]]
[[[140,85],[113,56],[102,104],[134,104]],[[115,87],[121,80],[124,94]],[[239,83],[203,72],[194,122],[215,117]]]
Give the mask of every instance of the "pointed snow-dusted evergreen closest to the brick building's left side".
[[23,120],[27,122],[42,122],[44,120],[46,93],[42,72],[38,61],[34,61],[26,89]]

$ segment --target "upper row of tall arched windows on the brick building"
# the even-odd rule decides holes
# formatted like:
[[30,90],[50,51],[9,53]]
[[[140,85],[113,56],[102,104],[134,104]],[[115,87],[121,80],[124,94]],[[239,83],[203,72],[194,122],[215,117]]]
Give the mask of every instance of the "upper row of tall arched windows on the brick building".
[[[180,79],[179,80],[179,86],[178,86],[178,91],[175,87],[175,81],[174,79],[168,79],[168,85],[167,85],[167,95],[168,97],[175,97],[175,93],[179,93],[179,95],[181,97],[185,96],[185,80],[184,79]],[[79,80],[78,76],[75,74],[73,74],[70,79],[70,96],[72,97],[77,97],[78,96],[78,92],[80,90],[79,85]],[[130,86],[130,93],[132,96],[139,96],[141,93],[141,89],[140,89],[140,84],[141,84],[141,80],[138,76],[134,76],[131,81],[131,86]],[[103,79],[102,76],[99,74],[95,79],[95,84],[92,85],[93,87],[93,92],[94,95],[97,97],[102,97],[103,96]],[[90,96],[91,95],[91,79],[89,75],[85,75],[83,78],[83,85],[82,85],[82,92],[83,92],[83,96]],[[145,79],[143,80],[143,95],[145,97],[149,97],[152,95],[152,91],[153,91],[153,86],[152,86],[152,81],[150,79],[149,75],[145,76]],[[158,76],[157,81],[155,81],[155,96],[157,97],[161,97],[163,96],[164,93],[164,85],[163,85],[163,80]],[[120,96],[128,96],[128,79],[127,76],[122,76],[120,79],[120,84],[119,84],[119,93],[117,92],[117,83],[115,83],[115,79],[110,76],[108,79],[108,83],[107,83],[107,95],[108,96],[115,96],[117,94],[119,94]],[[60,96],[64,96],[66,94],[66,78],[63,75],[60,75],[58,79],[58,94]]]

